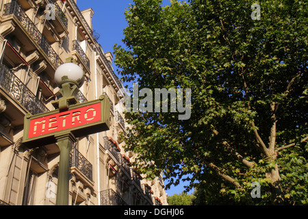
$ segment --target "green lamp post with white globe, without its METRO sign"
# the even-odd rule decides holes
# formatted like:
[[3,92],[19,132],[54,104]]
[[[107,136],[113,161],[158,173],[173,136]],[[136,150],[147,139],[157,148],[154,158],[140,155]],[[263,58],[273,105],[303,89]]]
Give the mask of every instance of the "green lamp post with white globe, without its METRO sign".
[[[70,105],[78,101],[75,96],[79,92],[80,86],[84,83],[84,71],[75,63],[67,62],[55,70],[55,83],[60,87],[62,97],[53,101],[53,106],[60,112],[68,110]],[[56,205],[68,205],[68,191],[70,180],[70,151],[76,138],[73,133],[62,131],[55,136],[60,149],[60,162],[57,183]]]

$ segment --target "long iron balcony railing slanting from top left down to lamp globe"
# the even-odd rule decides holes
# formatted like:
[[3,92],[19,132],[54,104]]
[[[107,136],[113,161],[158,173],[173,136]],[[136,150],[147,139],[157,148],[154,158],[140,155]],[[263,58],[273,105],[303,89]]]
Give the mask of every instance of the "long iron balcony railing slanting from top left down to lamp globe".
[[36,25],[34,25],[31,19],[23,11],[23,8],[21,8],[21,5],[19,5],[18,1],[12,1],[11,3],[4,5],[3,15],[9,14],[14,14],[16,16],[18,21],[21,22],[21,25],[25,27],[29,35],[40,45],[44,53],[46,53],[47,57],[49,57],[49,60],[51,60],[51,62],[55,64],[56,67],[63,64],[59,55],[57,55],[57,53],[49,44],[48,40],[42,33],[40,33]]

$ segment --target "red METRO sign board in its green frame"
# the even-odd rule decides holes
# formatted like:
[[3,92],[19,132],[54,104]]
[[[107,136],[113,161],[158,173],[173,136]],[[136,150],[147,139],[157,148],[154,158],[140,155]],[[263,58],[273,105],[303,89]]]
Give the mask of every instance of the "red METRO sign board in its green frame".
[[[107,113],[106,113],[107,112]],[[110,101],[99,100],[72,105],[68,111],[25,116],[23,143],[29,148],[52,144],[55,136],[71,132],[76,138],[109,129]]]

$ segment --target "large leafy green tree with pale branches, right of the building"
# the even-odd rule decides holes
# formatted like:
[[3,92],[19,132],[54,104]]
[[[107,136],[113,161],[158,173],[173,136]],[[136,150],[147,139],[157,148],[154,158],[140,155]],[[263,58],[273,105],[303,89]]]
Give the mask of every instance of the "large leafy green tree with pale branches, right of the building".
[[307,204],[307,1],[262,1],[260,20],[255,1],[161,3],[127,8],[115,63],[140,90],[191,88],[192,114],[127,113],[135,166],[202,204]]

